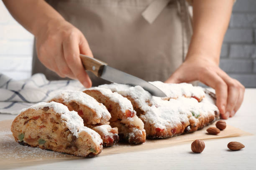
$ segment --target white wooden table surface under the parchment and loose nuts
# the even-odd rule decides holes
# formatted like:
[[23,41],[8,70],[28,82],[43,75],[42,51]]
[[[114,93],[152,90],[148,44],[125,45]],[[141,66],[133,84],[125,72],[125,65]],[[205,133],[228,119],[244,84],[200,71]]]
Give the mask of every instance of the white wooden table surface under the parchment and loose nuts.
[[[0,120],[14,119],[14,115],[0,114]],[[97,156],[95,158],[80,158],[77,160],[47,160],[30,163],[13,163],[10,167],[0,169],[145,169],[145,170],[188,170],[188,169],[230,169],[256,170],[256,89],[246,89],[243,105],[226,121],[249,133],[252,136],[205,140],[205,150],[201,154],[191,152],[190,143],[167,148],[138,151],[133,153]],[[238,141],[245,145],[243,150],[230,151],[227,144]]]

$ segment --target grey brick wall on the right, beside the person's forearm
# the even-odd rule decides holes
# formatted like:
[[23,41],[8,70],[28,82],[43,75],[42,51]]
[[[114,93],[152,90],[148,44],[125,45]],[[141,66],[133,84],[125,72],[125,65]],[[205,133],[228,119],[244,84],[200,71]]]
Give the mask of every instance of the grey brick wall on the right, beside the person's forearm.
[[245,87],[256,87],[256,0],[236,0],[220,67]]

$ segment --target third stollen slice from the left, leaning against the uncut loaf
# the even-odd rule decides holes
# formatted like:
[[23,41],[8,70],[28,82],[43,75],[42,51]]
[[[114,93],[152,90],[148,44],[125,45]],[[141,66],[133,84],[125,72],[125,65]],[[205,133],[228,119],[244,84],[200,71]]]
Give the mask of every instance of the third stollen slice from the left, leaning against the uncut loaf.
[[[107,107],[111,114],[110,125],[118,128],[120,140],[126,140],[132,144],[145,142],[144,124],[136,115],[136,111],[133,110],[133,105],[128,99],[100,87],[92,87],[84,92]],[[136,138],[134,138],[135,134]]]

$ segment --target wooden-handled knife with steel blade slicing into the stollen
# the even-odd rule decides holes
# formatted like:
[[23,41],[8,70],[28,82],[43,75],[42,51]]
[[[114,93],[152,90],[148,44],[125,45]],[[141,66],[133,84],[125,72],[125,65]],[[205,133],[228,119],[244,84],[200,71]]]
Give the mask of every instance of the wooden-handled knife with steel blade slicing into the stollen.
[[151,95],[154,95],[157,97],[166,97],[164,92],[162,92],[159,88],[150,84],[149,82],[146,82],[145,80],[142,80],[138,77],[129,75],[125,72],[122,72],[113,67],[110,67],[108,66],[107,63],[97,60],[95,58],[88,57],[82,54],[80,54],[80,58],[84,65],[84,69],[91,71],[97,77],[100,77],[104,80],[108,80],[110,82],[116,82],[119,84],[127,84],[131,86],[139,85],[144,90],[151,93]]

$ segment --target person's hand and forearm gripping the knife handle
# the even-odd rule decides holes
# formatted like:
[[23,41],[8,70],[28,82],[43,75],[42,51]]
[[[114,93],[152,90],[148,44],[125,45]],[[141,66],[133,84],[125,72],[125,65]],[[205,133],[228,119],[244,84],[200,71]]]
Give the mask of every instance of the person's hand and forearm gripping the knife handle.
[[68,23],[45,0],[3,0],[13,17],[36,37],[38,59],[61,77],[91,87],[79,53],[92,56],[82,32]]

